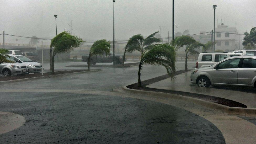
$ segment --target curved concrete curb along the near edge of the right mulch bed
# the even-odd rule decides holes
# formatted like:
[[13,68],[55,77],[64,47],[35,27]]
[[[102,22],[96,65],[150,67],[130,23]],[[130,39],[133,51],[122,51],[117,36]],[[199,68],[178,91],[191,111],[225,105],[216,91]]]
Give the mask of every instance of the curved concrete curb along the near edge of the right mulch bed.
[[162,92],[152,92],[152,91],[146,91],[146,90],[129,89],[126,86],[119,88],[118,91],[122,92],[122,93],[129,92],[131,94],[151,95],[151,96],[155,96],[155,97],[164,97],[164,98],[169,98],[169,99],[190,101],[195,104],[206,106],[208,108],[216,109],[223,113],[228,113],[228,114],[233,114],[233,115],[256,116],[256,108],[229,107],[226,105],[208,102],[208,101],[197,99],[197,98],[185,97],[182,95],[162,93]]

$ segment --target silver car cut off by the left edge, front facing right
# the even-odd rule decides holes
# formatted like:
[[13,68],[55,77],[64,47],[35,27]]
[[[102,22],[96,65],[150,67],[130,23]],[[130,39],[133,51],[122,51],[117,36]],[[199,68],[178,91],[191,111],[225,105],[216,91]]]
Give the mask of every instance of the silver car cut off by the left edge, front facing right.
[[2,62],[0,63],[0,74],[4,76],[11,76],[12,74],[25,74],[28,71],[28,68],[24,63],[15,62],[13,59],[7,57],[10,63]]

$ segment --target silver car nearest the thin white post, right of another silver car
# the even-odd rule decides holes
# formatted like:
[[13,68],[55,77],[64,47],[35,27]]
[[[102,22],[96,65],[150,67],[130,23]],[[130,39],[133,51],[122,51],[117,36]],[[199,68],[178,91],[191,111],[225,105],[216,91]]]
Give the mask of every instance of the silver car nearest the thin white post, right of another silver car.
[[20,56],[20,55],[9,55],[9,56],[15,62],[23,63],[24,65],[26,65],[28,67],[27,74],[42,72],[43,67],[41,63],[34,62],[25,56]]

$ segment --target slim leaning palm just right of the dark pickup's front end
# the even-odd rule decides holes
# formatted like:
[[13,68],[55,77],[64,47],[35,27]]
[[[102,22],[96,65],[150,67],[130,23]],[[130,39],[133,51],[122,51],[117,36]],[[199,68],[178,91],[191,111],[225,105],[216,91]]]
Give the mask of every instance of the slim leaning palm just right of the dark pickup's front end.
[[140,49],[140,45],[143,43],[143,40],[144,40],[144,38],[141,34],[137,34],[137,35],[134,35],[131,38],[129,38],[129,40],[124,48],[124,56],[123,56],[123,62],[122,62],[123,66],[124,66],[126,52],[132,53],[132,52]]

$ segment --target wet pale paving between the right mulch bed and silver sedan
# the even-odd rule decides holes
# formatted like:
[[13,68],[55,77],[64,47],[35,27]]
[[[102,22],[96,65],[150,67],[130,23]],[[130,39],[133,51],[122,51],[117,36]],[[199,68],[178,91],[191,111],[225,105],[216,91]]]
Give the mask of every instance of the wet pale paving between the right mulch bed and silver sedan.
[[[190,74],[191,74],[191,71],[182,73],[175,76],[174,80],[171,80],[170,78],[168,78],[168,79],[164,79],[162,81],[150,84],[146,87],[211,95],[211,96],[225,98],[225,99],[242,103],[244,105],[247,105],[248,108],[256,108],[256,92],[249,93],[249,92],[244,92],[245,90],[237,91],[236,87],[229,88],[229,89],[234,88],[236,89],[236,91],[213,88],[211,86],[209,88],[201,88],[201,87],[198,87],[196,84],[190,83]],[[251,89],[251,88],[248,88],[248,89]]]

